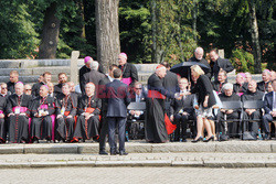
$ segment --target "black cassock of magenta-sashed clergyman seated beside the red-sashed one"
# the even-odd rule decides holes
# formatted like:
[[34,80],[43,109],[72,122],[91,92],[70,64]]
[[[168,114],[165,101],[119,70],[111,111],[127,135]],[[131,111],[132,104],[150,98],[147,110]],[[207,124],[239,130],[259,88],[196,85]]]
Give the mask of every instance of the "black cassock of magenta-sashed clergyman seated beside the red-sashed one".
[[[52,138],[52,118],[51,116],[55,112],[54,98],[53,97],[36,97],[31,106],[31,138],[47,139]],[[35,117],[35,113],[46,111],[47,116]]]

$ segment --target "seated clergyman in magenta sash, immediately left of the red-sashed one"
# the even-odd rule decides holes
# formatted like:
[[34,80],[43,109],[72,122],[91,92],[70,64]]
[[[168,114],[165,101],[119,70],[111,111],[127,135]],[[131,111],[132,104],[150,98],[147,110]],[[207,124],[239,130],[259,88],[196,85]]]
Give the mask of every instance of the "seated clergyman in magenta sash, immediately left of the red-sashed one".
[[40,96],[33,99],[31,106],[31,138],[33,143],[39,143],[39,140],[46,139],[47,142],[51,142],[52,139],[52,118],[51,115],[54,115],[54,98],[49,95],[49,87],[42,85],[40,87]]

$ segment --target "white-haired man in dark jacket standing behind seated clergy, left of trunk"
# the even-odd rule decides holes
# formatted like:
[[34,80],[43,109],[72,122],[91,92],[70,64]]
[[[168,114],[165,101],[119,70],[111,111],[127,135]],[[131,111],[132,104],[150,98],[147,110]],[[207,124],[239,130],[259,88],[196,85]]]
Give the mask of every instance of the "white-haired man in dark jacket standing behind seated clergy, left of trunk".
[[[79,83],[83,86],[85,86],[87,83],[93,83],[96,86],[96,95],[97,95],[98,83],[103,78],[105,78],[105,74],[98,72],[98,62],[93,61],[91,63],[91,72],[84,74],[84,79]],[[82,94],[85,95],[85,90],[82,90]]]

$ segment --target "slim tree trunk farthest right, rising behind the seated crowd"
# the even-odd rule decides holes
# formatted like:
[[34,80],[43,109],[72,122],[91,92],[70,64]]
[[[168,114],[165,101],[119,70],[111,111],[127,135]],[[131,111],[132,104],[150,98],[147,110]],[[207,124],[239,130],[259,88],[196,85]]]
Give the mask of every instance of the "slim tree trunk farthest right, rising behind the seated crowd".
[[250,21],[251,21],[251,35],[252,35],[252,44],[254,52],[254,63],[255,63],[255,73],[262,73],[262,53],[258,40],[258,25],[256,18],[256,7],[254,0],[248,0],[250,7]]

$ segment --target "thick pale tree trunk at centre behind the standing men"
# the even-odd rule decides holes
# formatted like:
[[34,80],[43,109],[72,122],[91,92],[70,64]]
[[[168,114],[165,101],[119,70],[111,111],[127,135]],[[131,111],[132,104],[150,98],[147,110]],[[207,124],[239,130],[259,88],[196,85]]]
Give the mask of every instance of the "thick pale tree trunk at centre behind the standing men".
[[117,64],[120,52],[119,0],[95,0],[95,9],[97,61],[107,69],[109,64]]

